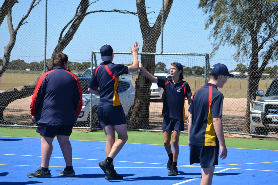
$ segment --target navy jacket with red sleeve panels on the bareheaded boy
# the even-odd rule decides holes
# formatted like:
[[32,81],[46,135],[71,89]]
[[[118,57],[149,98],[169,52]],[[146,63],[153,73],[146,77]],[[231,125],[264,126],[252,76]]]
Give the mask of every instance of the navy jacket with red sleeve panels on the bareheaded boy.
[[64,67],[48,69],[37,81],[30,109],[38,123],[73,125],[82,109],[78,78]]

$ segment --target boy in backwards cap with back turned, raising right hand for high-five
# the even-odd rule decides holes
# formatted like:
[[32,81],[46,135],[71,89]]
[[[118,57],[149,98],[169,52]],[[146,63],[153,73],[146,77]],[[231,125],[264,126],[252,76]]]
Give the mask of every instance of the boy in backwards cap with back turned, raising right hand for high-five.
[[[88,92],[99,95],[97,113],[99,123],[106,136],[105,154],[107,157],[104,161],[99,162],[99,167],[105,173],[105,179],[108,180],[123,179],[123,176],[117,174],[113,165],[113,159],[128,140],[125,114],[117,88],[120,75],[136,72],[139,69],[137,57],[139,45],[134,42],[133,48],[129,48],[133,55],[133,65],[126,66],[112,63],[114,59],[112,47],[110,45],[102,46],[100,54],[103,62],[95,68],[88,84]],[[119,137],[116,141],[115,131]]]

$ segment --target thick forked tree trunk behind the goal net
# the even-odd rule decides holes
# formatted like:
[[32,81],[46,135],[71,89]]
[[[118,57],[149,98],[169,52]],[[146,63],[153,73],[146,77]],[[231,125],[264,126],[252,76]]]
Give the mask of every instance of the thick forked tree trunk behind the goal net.
[[[170,13],[173,0],[165,0],[164,2],[164,24]],[[153,27],[150,27],[145,0],[136,1],[138,19],[143,38],[142,52],[155,53],[156,44],[161,34],[162,9]],[[141,55],[141,63],[144,68],[154,75],[155,71],[155,56]],[[134,129],[150,129],[149,125],[149,107],[150,107],[150,87],[152,82],[140,71],[135,82],[135,94],[133,105],[128,111],[128,127]]]

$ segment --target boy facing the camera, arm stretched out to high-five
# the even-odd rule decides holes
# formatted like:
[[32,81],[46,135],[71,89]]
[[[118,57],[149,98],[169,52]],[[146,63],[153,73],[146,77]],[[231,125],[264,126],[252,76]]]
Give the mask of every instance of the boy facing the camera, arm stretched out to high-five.
[[[184,103],[187,98],[188,105],[191,103],[191,90],[186,81],[183,81],[183,66],[178,62],[173,62],[170,67],[172,78],[158,78],[150,74],[139,62],[141,71],[152,81],[156,82],[158,87],[164,89],[164,100],[161,115],[164,116],[162,130],[164,147],[169,156],[167,169],[168,175],[178,175],[177,160],[179,155],[179,135],[184,131],[185,108]],[[171,149],[171,135],[173,131]]]

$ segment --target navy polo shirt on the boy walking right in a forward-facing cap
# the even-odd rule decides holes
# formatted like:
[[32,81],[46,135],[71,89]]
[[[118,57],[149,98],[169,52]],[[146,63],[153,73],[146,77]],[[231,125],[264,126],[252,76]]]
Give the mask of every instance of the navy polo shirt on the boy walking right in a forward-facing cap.
[[213,118],[222,116],[223,94],[214,84],[206,83],[192,97],[188,112],[192,114],[190,144],[219,146]]

